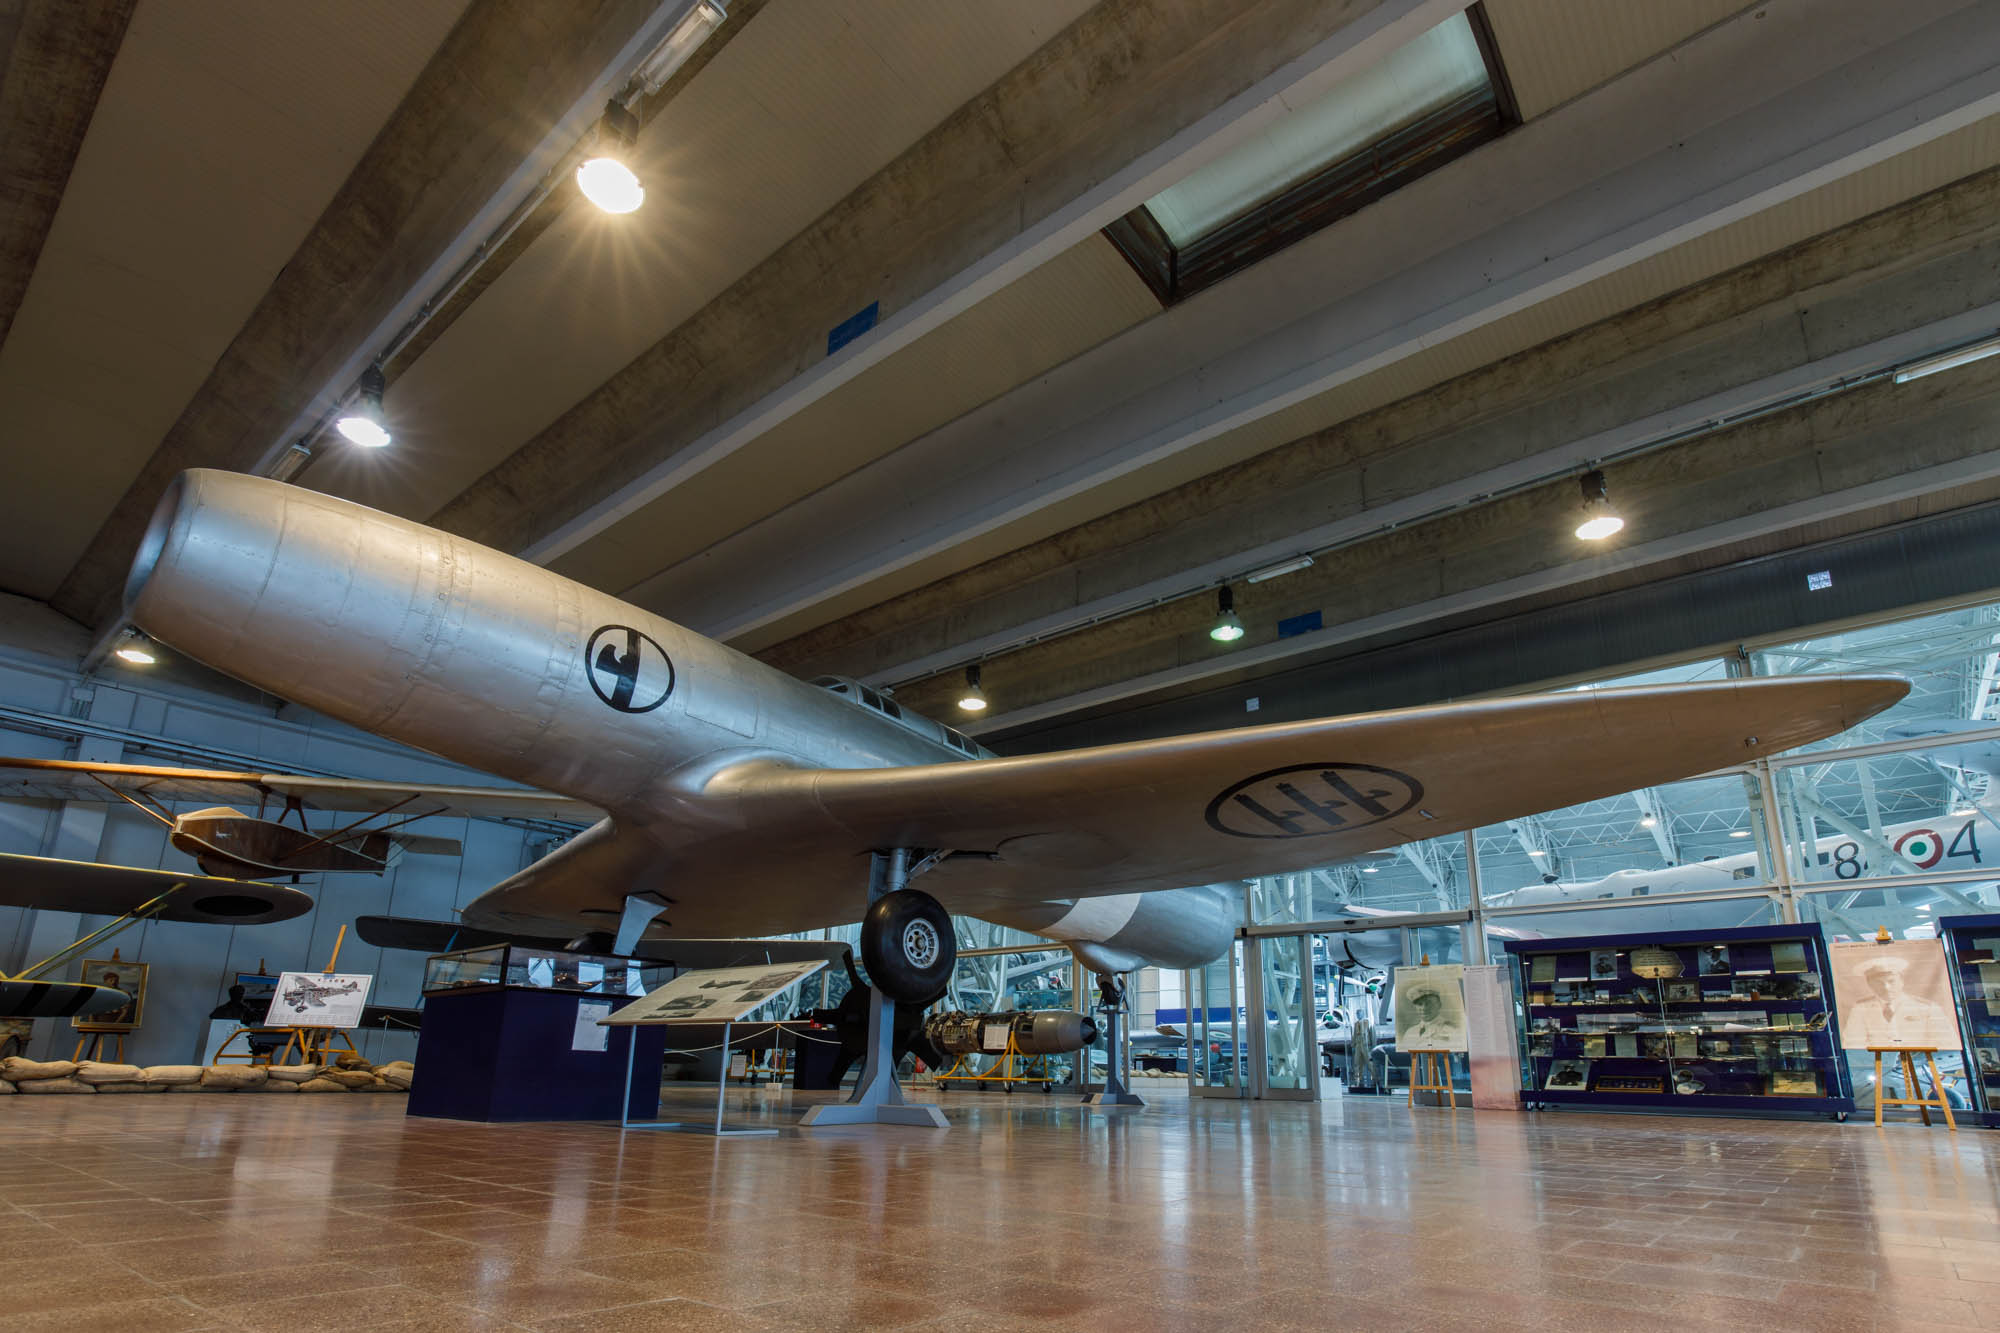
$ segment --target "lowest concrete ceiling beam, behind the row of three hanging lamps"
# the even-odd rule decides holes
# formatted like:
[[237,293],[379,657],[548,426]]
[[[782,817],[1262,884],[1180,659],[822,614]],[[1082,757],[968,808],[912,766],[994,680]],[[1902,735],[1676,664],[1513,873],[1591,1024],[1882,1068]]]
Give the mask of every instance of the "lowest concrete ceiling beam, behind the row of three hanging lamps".
[[[958,725],[972,735],[1006,733],[1266,673],[1340,644],[1406,634],[1804,524],[1940,492],[1978,488],[1984,496],[2000,480],[1996,438],[2000,358],[1908,384],[1882,378],[1606,468],[1630,544],[1596,552],[1576,542],[1568,532],[1572,486],[1524,490],[1350,546],[1282,590],[1240,596],[1252,632],[1232,648],[1208,642],[1208,616],[1180,602],[994,658],[984,671],[994,715]],[[1260,598],[1272,604],[1260,606]],[[1306,608],[1322,612],[1324,628],[1276,636],[1276,614]],[[948,677],[934,677],[898,691],[898,701],[954,717],[946,685]]]

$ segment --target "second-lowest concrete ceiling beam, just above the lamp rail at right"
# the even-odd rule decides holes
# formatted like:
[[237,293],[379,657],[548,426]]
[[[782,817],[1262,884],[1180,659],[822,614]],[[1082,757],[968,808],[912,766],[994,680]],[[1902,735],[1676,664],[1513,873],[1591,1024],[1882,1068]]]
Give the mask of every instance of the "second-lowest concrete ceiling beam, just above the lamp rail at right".
[[2000,328],[1996,218],[1986,172],[764,656],[902,685],[1980,338]]

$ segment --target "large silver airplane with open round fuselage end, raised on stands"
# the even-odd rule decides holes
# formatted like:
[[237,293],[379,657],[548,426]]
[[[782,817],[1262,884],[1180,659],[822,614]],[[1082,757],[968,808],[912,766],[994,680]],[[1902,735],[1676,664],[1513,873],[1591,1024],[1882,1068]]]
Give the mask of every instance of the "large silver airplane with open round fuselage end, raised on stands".
[[214,470],[170,484],[126,614],[262,691],[604,813],[466,925],[630,947],[862,917],[870,981],[902,1003],[944,991],[948,911],[1098,973],[1196,967],[1242,925],[1222,881],[1774,755],[1908,691],[1564,693],[994,759],[498,550]]

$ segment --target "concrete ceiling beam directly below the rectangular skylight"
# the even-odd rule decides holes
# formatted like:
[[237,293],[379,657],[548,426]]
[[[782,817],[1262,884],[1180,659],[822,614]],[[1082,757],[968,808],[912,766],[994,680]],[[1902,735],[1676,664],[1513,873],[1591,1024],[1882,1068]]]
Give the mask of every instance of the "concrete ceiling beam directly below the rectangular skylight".
[[802,618],[1996,112],[2000,8],[1758,6],[626,592]]

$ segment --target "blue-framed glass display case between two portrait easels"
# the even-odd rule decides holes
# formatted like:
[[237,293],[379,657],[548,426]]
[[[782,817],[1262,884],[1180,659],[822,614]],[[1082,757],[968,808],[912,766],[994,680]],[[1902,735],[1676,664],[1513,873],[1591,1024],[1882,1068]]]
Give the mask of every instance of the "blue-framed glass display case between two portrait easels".
[[1816,925],[1506,941],[1530,1107],[1854,1111]]

